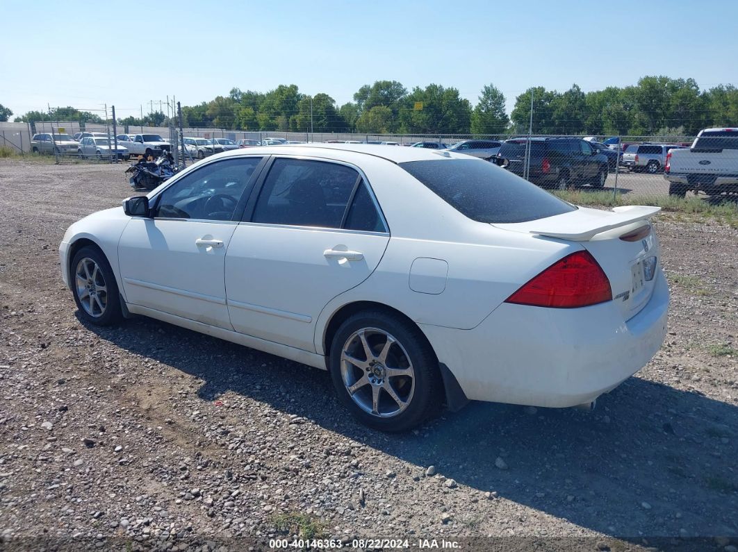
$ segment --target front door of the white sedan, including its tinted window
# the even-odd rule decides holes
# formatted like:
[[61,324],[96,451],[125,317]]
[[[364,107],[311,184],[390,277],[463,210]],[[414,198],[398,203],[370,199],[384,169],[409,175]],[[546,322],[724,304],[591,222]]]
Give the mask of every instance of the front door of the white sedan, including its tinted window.
[[232,329],[225,256],[261,161],[221,159],[187,172],[151,199],[151,218],[131,219],[118,244],[128,303]]

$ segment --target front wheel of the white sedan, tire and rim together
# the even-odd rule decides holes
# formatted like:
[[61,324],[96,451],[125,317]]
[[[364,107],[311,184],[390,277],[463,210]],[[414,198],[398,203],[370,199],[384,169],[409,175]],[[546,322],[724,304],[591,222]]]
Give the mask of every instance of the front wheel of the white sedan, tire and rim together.
[[86,246],[71,265],[72,294],[84,321],[111,326],[122,318],[118,285],[110,263],[100,249]]

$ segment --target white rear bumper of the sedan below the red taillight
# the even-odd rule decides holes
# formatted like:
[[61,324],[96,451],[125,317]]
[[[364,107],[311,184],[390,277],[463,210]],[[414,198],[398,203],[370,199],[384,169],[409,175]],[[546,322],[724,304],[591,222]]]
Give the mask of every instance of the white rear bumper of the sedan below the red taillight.
[[666,335],[661,270],[649,302],[623,321],[613,301],[581,309],[503,303],[474,329],[421,324],[469,399],[564,408],[612,390],[651,360]]

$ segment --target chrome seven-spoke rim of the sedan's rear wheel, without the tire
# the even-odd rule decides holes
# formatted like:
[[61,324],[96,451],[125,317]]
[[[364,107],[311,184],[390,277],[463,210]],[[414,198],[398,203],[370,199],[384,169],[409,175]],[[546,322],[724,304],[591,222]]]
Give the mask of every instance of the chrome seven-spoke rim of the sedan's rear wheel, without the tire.
[[397,416],[413,400],[415,371],[410,356],[382,329],[362,328],[346,340],[341,377],[351,399],[372,416]]

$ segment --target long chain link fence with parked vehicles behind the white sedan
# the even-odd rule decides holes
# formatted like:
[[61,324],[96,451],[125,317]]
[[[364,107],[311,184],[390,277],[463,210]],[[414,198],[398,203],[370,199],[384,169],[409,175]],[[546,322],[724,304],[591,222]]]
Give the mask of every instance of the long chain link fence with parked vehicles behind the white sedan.
[[[691,149],[694,136],[306,133],[77,122],[36,122],[34,126],[0,123],[0,147],[12,147],[21,154],[54,155],[59,163],[111,163],[138,159],[144,153],[131,145],[135,135],[160,136],[171,144],[164,149],[170,149],[175,162],[187,165],[213,151],[259,144],[415,146],[483,158],[554,190],[609,193],[628,201],[695,192],[738,196],[738,138],[730,130],[723,133],[728,136],[714,136],[710,147]],[[669,166],[672,154],[679,161],[678,174]]]

